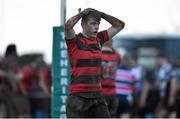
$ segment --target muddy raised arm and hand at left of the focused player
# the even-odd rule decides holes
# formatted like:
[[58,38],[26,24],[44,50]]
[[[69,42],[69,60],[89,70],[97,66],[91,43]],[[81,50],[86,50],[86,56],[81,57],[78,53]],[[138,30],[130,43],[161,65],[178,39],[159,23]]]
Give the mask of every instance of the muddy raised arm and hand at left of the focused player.
[[65,37],[67,39],[73,39],[76,36],[76,33],[74,31],[74,26],[75,24],[86,14],[89,13],[89,11],[92,11],[92,9],[85,9],[81,12],[81,10],[79,10],[79,14],[71,17],[69,20],[67,20],[67,22],[65,23]]

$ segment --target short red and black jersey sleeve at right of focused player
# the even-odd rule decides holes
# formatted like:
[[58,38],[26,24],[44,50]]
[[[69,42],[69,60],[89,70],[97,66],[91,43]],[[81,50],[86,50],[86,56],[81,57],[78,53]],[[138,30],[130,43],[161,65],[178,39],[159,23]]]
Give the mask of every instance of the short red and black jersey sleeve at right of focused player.
[[98,33],[97,37],[100,39],[101,46],[106,42],[109,41],[109,35],[107,30],[101,31]]

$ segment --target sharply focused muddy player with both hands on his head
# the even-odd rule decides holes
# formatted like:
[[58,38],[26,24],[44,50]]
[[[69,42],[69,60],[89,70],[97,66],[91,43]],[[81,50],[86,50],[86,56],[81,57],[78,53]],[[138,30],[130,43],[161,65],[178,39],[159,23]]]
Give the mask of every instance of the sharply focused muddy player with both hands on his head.
[[[76,34],[75,24],[82,18],[82,33]],[[103,18],[111,24],[98,31]],[[106,13],[87,8],[65,23],[65,40],[71,62],[70,95],[67,99],[68,118],[110,117],[101,94],[101,47],[124,28],[124,22]]]

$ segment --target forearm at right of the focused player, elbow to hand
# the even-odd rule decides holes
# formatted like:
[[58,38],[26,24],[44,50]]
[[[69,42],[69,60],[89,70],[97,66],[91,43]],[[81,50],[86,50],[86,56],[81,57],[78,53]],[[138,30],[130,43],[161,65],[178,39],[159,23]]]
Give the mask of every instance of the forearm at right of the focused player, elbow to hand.
[[104,12],[100,12],[101,13],[101,17],[103,19],[105,19],[106,21],[108,21],[113,27],[121,27],[124,28],[125,23],[111,15],[108,15]]

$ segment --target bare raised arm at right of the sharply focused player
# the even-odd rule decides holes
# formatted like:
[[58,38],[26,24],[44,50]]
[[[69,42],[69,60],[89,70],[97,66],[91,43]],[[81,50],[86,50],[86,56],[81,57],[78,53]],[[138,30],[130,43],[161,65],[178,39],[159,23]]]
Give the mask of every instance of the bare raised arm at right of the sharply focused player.
[[101,17],[112,25],[109,29],[107,29],[109,38],[112,39],[113,36],[115,36],[119,31],[121,31],[124,28],[125,23],[104,12],[100,12],[100,13],[101,13]]

